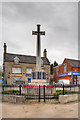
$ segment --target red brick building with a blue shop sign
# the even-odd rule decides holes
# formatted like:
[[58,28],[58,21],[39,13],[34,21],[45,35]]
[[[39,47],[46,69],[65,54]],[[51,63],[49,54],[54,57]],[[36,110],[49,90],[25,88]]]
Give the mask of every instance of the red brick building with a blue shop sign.
[[63,63],[53,68],[54,82],[69,79],[70,84],[80,83],[80,60],[64,59]]

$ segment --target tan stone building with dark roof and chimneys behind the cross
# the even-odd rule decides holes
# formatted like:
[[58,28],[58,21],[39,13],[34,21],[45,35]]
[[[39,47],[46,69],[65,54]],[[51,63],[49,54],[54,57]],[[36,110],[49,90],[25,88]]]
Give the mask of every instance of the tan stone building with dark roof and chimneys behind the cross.
[[[32,79],[31,73],[36,68],[36,56],[7,53],[6,49],[7,46],[4,43],[4,83],[16,84],[19,81],[25,84],[30,83]],[[41,68],[46,72],[46,81],[50,82],[50,62],[47,58],[46,49],[44,49],[41,61]]]

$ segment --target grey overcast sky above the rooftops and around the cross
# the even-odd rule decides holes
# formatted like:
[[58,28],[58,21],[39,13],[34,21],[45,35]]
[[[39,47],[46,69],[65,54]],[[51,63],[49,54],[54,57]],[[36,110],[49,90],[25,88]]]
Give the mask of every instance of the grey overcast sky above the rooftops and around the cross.
[[[76,2],[13,2],[2,3],[2,44],[7,52],[36,55],[36,30],[41,24],[41,55],[47,49],[51,63],[61,64],[64,58],[78,59],[78,3]],[[0,64],[2,64],[2,52]]]

